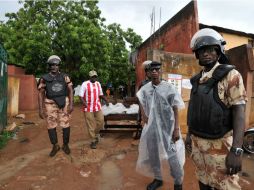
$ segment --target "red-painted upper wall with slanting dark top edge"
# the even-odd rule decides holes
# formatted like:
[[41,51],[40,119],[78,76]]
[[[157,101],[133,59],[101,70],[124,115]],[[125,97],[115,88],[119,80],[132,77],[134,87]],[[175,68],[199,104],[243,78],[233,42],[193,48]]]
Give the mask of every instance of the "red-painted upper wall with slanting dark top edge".
[[191,1],[138,48],[136,59],[136,90],[145,78],[142,63],[150,49],[189,53],[192,36],[198,31],[197,2]]

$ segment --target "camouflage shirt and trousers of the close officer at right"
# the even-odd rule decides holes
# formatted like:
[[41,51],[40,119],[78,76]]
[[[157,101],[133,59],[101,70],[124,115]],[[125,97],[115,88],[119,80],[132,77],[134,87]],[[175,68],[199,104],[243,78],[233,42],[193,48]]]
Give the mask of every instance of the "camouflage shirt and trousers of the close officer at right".
[[[203,74],[200,83],[212,77],[217,63],[212,70]],[[242,77],[236,70],[231,70],[228,75],[218,83],[218,94],[222,102],[231,107],[244,104],[247,101],[246,91]],[[225,160],[233,141],[233,131],[228,132],[220,139],[204,139],[191,135],[192,159],[196,165],[196,175],[200,182],[221,190],[241,189],[238,175],[227,175]]]

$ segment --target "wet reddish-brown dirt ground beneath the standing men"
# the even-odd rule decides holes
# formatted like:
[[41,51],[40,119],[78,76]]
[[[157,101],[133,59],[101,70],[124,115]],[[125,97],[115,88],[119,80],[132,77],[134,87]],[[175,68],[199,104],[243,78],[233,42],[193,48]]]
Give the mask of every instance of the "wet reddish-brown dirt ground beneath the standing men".
[[[47,129],[37,112],[24,112],[25,119],[10,118],[19,126],[17,135],[0,150],[0,190],[142,190],[152,180],[135,172],[138,141],[132,134],[106,134],[91,150],[83,114],[76,106],[71,120],[71,154],[59,151],[54,158]],[[33,122],[34,124],[24,124]],[[61,129],[58,141],[62,144]],[[243,189],[253,189],[254,156],[244,155]],[[162,190],[173,189],[172,179]],[[197,190],[194,166],[187,157],[185,190]]]

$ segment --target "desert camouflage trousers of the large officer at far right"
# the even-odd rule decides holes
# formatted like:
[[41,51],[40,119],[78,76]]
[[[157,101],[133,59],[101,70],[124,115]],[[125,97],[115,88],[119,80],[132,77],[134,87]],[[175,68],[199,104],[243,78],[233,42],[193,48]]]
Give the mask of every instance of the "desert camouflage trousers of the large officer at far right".
[[220,139],[203,139],[192,135],[191,157],[200,182],[220,190],[241,189],[238,175],[226,174],[226,156],[233,141],[233,132]]

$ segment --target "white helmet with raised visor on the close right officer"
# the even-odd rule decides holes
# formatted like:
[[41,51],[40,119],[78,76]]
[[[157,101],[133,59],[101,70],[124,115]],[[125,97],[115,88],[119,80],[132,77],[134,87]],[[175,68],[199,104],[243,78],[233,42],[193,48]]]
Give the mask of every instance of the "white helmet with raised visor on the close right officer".
[[191,39],[190,47],[198,59],[197,50],[206,46],[217,46],[217,53],[219,55],[218,61],[221,64],[226,64],[228,63],[228,59],[225,55],[225,44],[226,41],[218,32],[211,28],[204,28],[194,34]]

